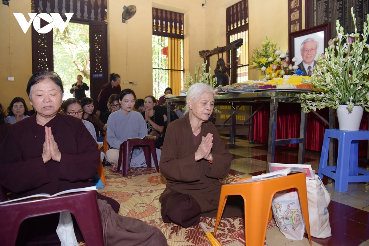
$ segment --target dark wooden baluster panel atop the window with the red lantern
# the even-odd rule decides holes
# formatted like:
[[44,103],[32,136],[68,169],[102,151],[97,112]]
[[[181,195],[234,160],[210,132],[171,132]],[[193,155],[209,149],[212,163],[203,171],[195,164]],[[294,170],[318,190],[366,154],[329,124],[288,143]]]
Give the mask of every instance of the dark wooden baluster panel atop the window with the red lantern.
[[152,8],[152,35],[184,39],[184,14]]

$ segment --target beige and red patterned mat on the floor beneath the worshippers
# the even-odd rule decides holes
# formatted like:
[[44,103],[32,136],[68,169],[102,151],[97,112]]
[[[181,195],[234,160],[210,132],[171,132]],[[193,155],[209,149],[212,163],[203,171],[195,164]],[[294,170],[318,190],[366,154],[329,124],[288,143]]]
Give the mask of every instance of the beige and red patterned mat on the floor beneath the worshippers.
[[[166,186],[166,179],[157,173],[155,168],[130,168],[127,177],[120,172],[104,168],[107,184],[98,192],[114,198],[120,203],[119,214],[140,219],[146,224],[155,226],[164,233],[170,246],[207,246],[208,240],[200,226],[183,228],[173,223],[164,223],[161,218],[159,196]],[[221,180],[226,183],[232,176]],[[215,218],[201,217],[201,222],[207,224],[209,231],[214,231]],[[269,221],[268,229],[275,227],[274,221]],[[221,245],[228,245],[238,240],[238,235],[244,233],[244,218],[222,218],[215,238]]]

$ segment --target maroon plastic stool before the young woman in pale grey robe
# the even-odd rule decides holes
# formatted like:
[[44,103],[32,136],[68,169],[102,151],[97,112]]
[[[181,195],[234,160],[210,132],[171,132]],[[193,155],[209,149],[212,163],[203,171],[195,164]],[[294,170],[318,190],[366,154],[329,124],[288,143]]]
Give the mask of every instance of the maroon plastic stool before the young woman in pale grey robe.
[[128,168],[131,163],[131,155],[134,147],[141,147],[144,150],[146,166],[151,168],[151,155],[154,159],[156,171],[159,171],[158,157],[156,156],[155,140],[154,139],[139,139],[139,140],[126,140],[119,147],[119,159],[117,170],[120,170],[122,166],[122,175],[127,177]]

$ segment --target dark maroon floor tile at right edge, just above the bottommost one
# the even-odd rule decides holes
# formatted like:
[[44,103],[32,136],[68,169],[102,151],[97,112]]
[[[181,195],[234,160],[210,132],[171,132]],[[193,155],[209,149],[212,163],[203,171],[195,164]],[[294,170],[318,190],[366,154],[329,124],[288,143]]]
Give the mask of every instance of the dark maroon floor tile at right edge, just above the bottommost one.
[[331,223],[331,228],[335,231],[345,233],[362,241],[369,239],[369,230],[367,229],[366,225],[348,218],[341,218]]

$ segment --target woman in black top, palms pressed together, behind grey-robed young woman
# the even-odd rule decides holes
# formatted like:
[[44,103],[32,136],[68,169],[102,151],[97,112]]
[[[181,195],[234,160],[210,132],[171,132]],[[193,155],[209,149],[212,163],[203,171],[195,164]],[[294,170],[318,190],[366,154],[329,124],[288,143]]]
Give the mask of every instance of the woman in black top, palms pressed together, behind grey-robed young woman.
[[154,96],[145,97],[145,111],[142,111],[141,115],[144,116],[147,128],[147,134],[150,135],[152,131],[156,131],[159,135],[155,140],[155,148],[163,146],[164,141],[164,117],[163,114],[157,110],[154,110],[156,99]]

